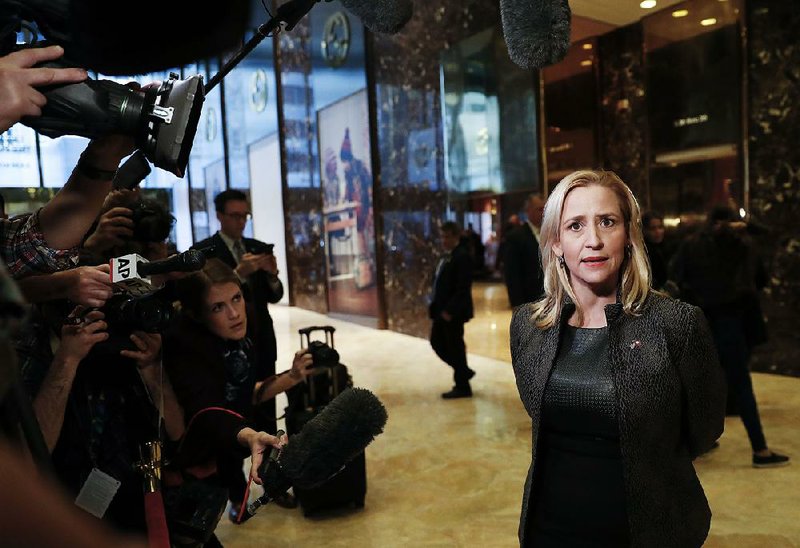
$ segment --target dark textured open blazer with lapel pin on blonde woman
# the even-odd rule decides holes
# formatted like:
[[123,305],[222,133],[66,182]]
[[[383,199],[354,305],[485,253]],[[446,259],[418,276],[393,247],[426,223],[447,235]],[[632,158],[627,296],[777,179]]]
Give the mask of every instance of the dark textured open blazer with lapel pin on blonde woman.
[[[561,330],[574,310],[567,300],[559,323],[544,330],[533,324],[530,304],[518,308],[511,320],[517,388],[533,421],[533,454],[519,528],[521,546],[525,546],[542,396]],[[701,546],[708,535],[711,510],[692,459],[722,434],[726,395],[705,317],[697,307],[652,292],[639,316],[625,314],[621,304],[606,306],[605,313],[631,545]]]

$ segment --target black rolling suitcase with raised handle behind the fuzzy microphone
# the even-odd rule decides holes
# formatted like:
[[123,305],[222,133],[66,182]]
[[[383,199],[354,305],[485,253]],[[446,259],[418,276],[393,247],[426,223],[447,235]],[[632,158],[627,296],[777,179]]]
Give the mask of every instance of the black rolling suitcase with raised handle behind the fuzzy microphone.
[[[315,331],[325,333],[325,341],[311,340]],[[303,429],[325,406],[343,390],[353,386],[347,367],[339,362],[333,343],[333,326],[310,326],[299,330],[300,345],[314,356],[314,369],[302,382],[287,393],[286,432],[291,436]],[[313,489],[294,487],[305,516],[324,510],[364,506],[367,494],[367,468],[364,453],[351,460],[331,479]]]

